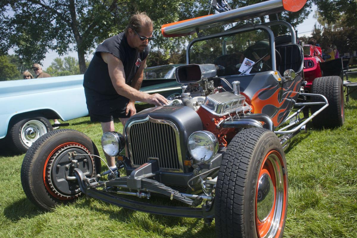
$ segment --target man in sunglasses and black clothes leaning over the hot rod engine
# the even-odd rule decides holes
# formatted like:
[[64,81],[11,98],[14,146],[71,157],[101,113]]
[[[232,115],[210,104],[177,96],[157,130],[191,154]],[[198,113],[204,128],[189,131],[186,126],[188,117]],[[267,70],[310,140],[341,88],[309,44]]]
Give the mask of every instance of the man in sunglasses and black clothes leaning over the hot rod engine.
[[[98,45],[84,74],[84,92],[90,119],[99,121],[103,132],[115,131],[113,118],[125,126],[136,113],[135,101],[166,105],[164,96],[140,92],[144,66],[149,54],[152,21],[145,13],[131,16],[124,32]],[[106,155],[115,168],[115,158]]]

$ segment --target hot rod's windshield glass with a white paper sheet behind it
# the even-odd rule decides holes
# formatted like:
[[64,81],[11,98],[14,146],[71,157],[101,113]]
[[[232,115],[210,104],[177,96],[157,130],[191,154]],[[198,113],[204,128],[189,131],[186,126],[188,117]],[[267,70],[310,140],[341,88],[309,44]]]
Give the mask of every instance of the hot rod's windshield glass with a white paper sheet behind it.
[[190,64],[215,64],[217,76],[272,70],[269,36],[263,30],[196,41],[189,54]]

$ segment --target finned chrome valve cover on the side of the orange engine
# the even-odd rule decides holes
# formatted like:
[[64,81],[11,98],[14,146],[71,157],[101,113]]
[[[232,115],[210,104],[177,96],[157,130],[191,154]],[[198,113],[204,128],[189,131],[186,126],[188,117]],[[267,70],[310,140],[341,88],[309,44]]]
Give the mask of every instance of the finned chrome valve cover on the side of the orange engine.
[[201,105],[213,115],[224,116],[228,113],[241,111],[244,108],[245,96],[233,92],[220,92],[208,95]]

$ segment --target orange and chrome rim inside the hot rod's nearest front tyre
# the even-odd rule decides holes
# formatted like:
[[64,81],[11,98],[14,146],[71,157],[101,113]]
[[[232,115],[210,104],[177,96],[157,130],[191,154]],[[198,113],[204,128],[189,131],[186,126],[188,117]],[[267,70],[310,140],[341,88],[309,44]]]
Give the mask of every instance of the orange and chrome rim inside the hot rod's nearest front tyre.
[[282,157],[270,151],[261,165],[255,195],[258,237],[279,237],[286,213],[287,179]]

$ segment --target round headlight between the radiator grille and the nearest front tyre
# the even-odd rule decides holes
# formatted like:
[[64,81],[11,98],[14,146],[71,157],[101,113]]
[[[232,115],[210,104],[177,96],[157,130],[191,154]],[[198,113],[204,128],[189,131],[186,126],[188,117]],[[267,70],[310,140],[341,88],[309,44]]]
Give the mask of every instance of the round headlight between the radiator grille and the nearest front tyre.
[[210,161],[218,151],[218,140],[212,132],[196,131],[188,137],[188,151],[200,163]]

